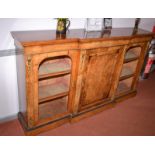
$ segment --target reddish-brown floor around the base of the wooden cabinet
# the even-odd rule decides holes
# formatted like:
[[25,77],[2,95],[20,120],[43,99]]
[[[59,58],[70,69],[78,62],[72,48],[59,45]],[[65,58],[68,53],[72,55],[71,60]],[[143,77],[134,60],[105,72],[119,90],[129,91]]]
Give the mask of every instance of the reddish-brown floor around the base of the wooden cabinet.
[[[22,136],[18,120],[0,124],[0,135]],[[42,136],[155,135],[155,73],[138,85],[136,97],[74,124],[65,124]]]

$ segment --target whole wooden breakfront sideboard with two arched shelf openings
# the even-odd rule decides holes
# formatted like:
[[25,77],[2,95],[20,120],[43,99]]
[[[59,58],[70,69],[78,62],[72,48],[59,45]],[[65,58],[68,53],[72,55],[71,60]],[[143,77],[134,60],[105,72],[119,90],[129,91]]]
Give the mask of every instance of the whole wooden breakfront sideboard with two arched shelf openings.
[[12,32],[19,120],[27,135],[76,122],[136,95],[152,33],[114,28]]

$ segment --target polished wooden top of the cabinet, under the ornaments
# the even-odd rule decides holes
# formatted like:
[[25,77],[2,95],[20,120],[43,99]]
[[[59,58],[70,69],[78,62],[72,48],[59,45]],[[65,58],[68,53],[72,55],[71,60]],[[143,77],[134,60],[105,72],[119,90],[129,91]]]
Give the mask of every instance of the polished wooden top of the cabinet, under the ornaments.
[[136,36],[153,36],[153,33],[138,29],[133,34],[133,28],[113,28],[110,33],[101,31],[86,32],[84,29],[71,29],[66,35],[56,35],[56,30],[13,31],[13,38],[23,46],[43,45],[65,42],[87,42],[92,40],[128,39]]

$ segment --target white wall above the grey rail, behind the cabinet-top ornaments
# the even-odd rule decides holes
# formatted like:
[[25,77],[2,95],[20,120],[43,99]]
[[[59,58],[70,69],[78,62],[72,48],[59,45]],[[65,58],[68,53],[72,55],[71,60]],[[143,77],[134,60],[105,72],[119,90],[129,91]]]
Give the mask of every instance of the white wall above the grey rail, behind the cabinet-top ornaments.
[[[113,18],[113,27],[133,27],[134,18]],[[144,18],[141,20],[140,27],[152,30],[155,19]],[[71,29],[84,28],[85,18],[71,18]],[[56,20],[52,18],[7,18],[0,19],[0,50],[14,48],[13,39],[10,31],[55,29]]]

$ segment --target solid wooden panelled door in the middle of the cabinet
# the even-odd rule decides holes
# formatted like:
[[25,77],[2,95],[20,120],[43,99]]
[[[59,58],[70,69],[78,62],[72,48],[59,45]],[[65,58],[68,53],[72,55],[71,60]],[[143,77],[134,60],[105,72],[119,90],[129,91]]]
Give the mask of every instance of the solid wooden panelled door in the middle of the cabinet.
[[87,50],[83,68],[80,110],[111,100],[115,71],[120,61],[121,46]]

